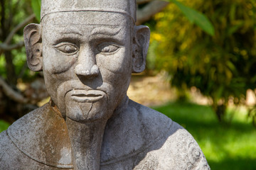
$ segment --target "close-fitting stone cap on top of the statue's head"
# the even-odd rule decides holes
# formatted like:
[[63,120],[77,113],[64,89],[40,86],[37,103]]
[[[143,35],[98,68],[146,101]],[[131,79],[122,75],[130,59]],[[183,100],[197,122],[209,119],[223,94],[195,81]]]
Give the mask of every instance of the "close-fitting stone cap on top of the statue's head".
[[123,13],[136,21],[135,0],[42,0],[41,20],[50,13],[67,11],[105,11]]

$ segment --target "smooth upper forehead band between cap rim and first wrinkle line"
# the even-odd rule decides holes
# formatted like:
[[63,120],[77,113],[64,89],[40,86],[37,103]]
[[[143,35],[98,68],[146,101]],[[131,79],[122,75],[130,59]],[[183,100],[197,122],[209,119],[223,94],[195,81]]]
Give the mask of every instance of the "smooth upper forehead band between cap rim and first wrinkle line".
[[41,23],[75,26],[133,26],[132,19],[123,13],[99,11],[69,11],[50,13]]

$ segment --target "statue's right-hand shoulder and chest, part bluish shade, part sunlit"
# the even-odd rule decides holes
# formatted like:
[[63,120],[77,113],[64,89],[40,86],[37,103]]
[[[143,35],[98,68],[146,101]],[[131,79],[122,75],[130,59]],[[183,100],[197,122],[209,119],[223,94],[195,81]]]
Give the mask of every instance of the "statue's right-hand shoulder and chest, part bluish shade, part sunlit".
[[[129,161],[134,162],[133,169],[209,169],[201,148],[187,130],[131,100],[107,124],[102,167],[124,166]],[[110,169],[114,169],[112,166]]]

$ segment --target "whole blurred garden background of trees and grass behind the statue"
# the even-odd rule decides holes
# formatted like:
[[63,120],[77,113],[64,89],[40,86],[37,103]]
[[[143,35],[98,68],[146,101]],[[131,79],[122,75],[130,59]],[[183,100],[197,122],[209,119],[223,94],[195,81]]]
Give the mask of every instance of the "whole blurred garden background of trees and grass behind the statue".
[[[0,1],[0,132],[49,101],[26,64],[23,28],[40,0]],[[256,169],[256,1],[137,0],[151,29],[146,70],[128,96],[186,128],[211,169]]]

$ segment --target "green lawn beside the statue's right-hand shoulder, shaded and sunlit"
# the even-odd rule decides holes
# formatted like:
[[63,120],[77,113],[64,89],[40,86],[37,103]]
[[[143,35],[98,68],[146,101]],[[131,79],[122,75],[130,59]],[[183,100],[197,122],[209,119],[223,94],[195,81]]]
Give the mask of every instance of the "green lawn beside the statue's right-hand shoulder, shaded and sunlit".
[[[231,123],[218,123],[208,106],[169,103],[154,108],[182,125],[193,135],[211,169],[256,169],[256,129],[245,109],[235,111]],[[234,113],[228,110],[228,116]]]

